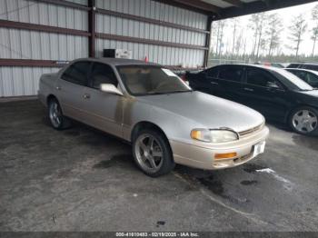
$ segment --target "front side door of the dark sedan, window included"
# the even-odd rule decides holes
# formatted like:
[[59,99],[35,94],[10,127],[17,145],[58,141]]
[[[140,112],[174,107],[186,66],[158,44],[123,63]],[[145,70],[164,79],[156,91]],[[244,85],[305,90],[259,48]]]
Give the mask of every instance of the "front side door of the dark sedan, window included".
[[241,94],[243,104],[269,118],[281,120],[288,108],[286,97],[283,85],[273,74],[262,68],[246,68]]

